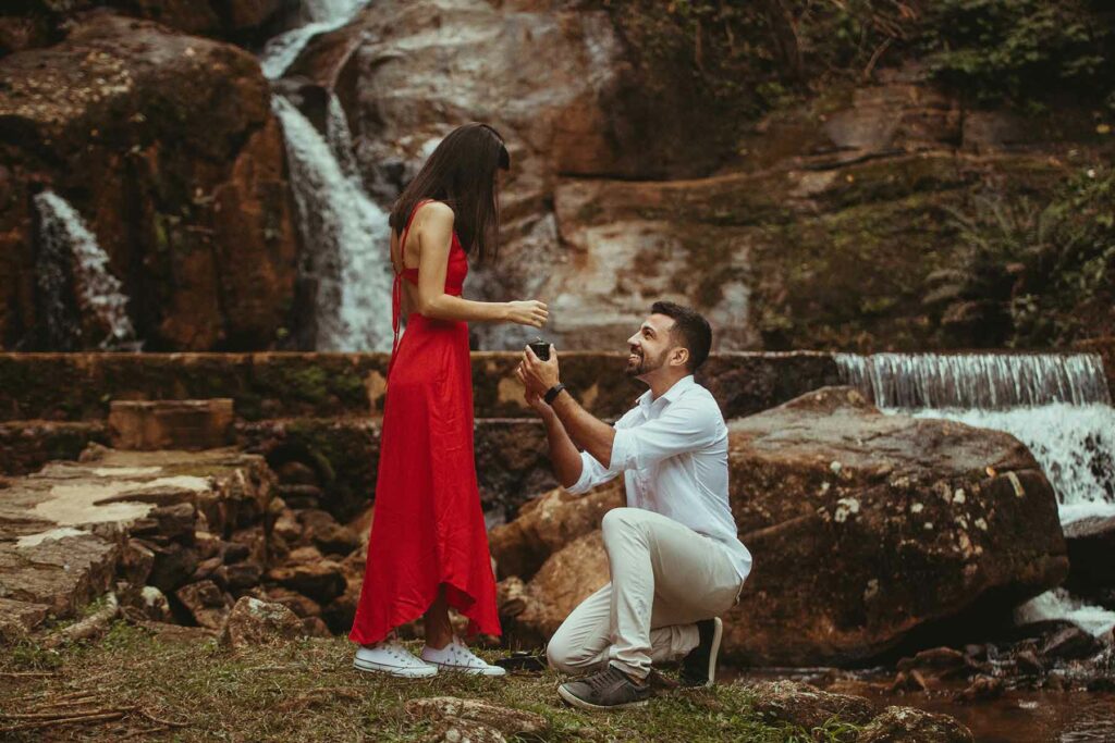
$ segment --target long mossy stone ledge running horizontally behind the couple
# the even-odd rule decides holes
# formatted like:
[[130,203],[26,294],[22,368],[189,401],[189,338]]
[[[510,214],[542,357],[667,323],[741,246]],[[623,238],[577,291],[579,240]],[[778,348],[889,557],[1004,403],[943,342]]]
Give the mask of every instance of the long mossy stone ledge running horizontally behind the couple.
[[[518,353],[474,352],[477,418],[533,418],[514,377]],[[565,351],[562,379],[593,414],[614,419],[644,389],[623,374],[623,354]],[[386,353],[0,353],[0,420],[94,421],[113,400],[230,398],[237,419],[378,417]],[[820,352],[729,352],[698,375],[726,418],[746,416],[834,384]]]

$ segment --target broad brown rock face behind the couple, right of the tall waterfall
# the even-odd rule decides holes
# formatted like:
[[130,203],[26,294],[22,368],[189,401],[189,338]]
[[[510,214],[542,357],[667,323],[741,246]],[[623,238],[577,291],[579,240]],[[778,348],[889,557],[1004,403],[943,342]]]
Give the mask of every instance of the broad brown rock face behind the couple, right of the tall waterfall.
[[[993,312],[946,296],[941,272],[960,257],[951,211],[981,184],[1040,193],[1067,174],[1020,150],[1009,116],[886,70],[733,120],[725,157],[691,81],[669,65],[647,79],[656,50],[595,8],[377,2],[314,40],[290,82],[337,91],[385,202],[453,126],[496,126],[513,159],[502,256],[468,291],[544,299],[559,346],[621,348],[660,299],[701,310],[724,350],[1001,342]],[[304,99],[320,118],[326,97]],[[488,349],[532,334],[476,332]]]

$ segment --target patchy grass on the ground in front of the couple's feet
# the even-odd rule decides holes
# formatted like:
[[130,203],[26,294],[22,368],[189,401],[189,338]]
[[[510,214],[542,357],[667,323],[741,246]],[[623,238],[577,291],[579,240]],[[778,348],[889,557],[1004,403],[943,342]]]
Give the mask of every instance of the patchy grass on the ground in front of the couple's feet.
[[550,730],[524,737],[534,741],[835,742],[856,732],[837,720],[815,731],[766,724],[752,711],[747,687],[736,684],[663,694],[640,710],[589,714],[564,706],[555,693],[561,678],[549,672],[400,681],[355,671],[352,649],[336,637],[232,653],[213,639],[156,635],[124,622],[96,642],[57,652],[25,641],[0,657],[0,716],[35,713],[80,693],[96,695],[90,708],[128,712],[118,720],[20,732],[7,732],[13,718],[0,717],[0,739],[420,741],[432,723],[410,717],[404,705],[429,696],[481,698],[541,714]]

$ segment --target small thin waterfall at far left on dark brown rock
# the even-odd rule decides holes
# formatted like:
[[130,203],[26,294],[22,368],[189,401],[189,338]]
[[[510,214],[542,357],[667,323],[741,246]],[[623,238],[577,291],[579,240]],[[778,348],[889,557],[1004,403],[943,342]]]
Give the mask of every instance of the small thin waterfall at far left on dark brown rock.
[[46,296],[47,332],[51,341],[65,345],[81,332],[80,322],[67,317],[65,309],[67,276],[72,275],[78,306],[107,329],[99,348],[134,345],[136,334],[128,319],[128,297],[120,282],[108,271],[108,256],[81,215],[50,190],[35,196],[35,206],[41,234],[39,289]]

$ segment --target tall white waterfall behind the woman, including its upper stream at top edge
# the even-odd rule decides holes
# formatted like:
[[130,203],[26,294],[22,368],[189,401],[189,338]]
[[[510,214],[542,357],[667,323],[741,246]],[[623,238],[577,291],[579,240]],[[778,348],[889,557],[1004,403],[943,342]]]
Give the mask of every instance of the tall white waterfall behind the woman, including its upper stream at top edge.
[[[268,42],[264,75],[280,77],[309,40],[347,23],[366,0],[304,0],[310,21]],[[282,96],[271,99],[282,123],[302,242],[304,273],[317,285],[316,348],[385,351],[391,345],[388,215],[366,193],[340,100],[330,95],[326,135]]]

